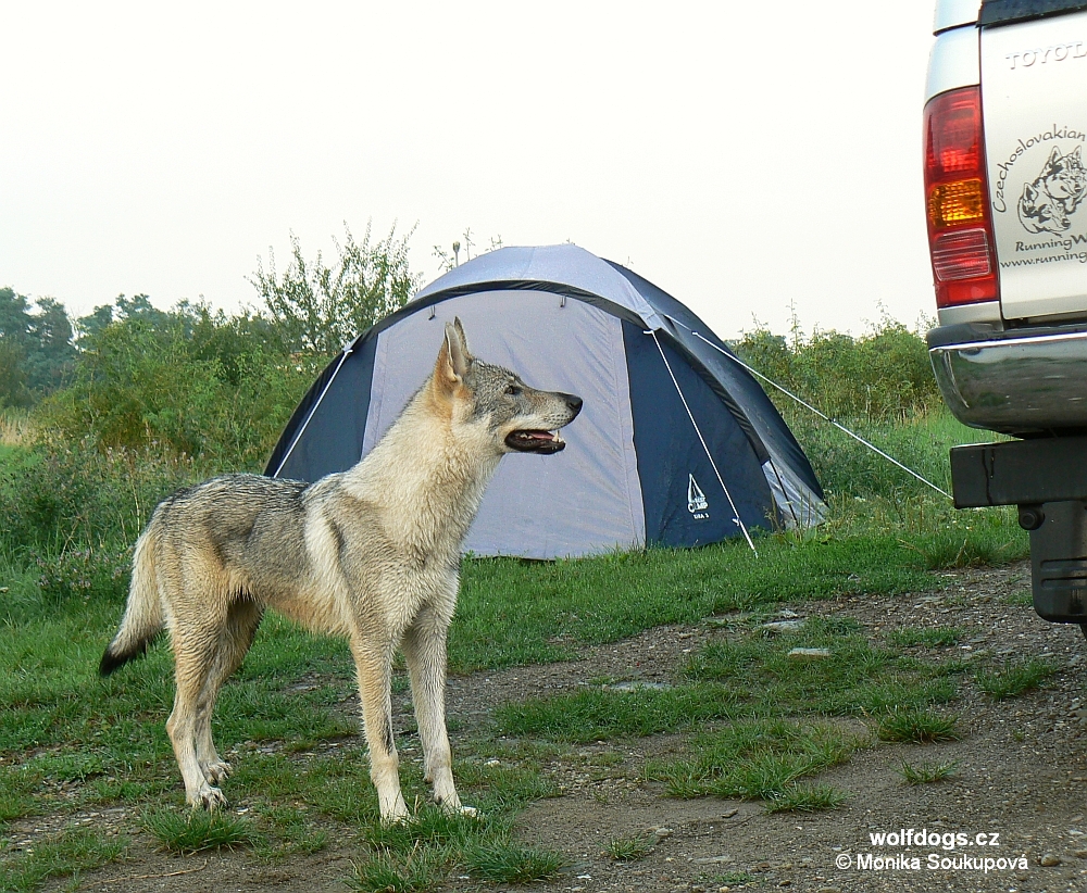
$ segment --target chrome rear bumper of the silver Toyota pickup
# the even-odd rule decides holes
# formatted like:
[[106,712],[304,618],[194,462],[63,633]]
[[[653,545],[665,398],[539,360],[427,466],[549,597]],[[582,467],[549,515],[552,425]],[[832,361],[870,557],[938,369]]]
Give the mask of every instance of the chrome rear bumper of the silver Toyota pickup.
[[974,428],[1005,433],[1087,430],[1087,326],[928,332],[944,399]]

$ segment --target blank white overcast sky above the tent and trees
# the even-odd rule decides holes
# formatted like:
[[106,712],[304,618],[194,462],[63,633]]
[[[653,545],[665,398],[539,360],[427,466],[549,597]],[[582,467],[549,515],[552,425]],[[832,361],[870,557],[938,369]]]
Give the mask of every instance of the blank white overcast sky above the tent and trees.
[[[934,314],[927,0],[0,2],[0,286],[255,303],[293,230],[571,240],[721,336]],[[462,251],[463,260],[463,251]]]

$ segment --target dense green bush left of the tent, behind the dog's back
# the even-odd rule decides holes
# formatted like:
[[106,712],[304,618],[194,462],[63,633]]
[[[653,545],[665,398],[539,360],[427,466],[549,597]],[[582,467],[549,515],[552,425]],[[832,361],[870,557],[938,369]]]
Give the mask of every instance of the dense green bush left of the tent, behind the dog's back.
[[216,468],[261,468],[322,360],[268,349],[249,317],[188,305],[161,315],[97,331],[40,424],[99,450],[164,448]]

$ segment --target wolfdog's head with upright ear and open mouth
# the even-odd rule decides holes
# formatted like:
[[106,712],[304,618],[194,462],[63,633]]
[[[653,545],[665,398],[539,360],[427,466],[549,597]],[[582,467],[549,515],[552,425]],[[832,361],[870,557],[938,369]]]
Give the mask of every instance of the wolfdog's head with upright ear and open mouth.
[[579,397],[530,388],[516,373],[474,357],[459,318],[446,323],[433,381],[454,425],[485,428],[499,453],[560,452],[566,443],[559,429],[582,411]]

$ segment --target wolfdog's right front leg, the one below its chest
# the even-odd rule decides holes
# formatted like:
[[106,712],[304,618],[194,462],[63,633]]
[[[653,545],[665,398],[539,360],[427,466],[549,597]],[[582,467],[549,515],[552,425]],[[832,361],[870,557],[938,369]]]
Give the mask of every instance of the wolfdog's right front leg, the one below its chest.
[[434,785],[434,802],[450,812],[461,806],[453,785],[452,751],[446,731],[446,632],[448,618],[425,607],[404,633],[401,647],[411,678],[415,719],[423,744],[426,780]]

